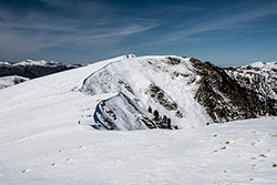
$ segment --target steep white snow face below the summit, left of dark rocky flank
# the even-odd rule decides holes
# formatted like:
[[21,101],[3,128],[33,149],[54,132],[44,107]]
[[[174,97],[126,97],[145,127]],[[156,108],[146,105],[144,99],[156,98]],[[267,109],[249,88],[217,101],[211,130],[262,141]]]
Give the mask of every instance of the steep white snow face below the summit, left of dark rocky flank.
[[208,122],[205,111],[194,99],[197,78],[189,59],[129,58],[92,73],[81,91],[91,95],[122,92],[141,109],[156,110],[174,125],[191,127]]

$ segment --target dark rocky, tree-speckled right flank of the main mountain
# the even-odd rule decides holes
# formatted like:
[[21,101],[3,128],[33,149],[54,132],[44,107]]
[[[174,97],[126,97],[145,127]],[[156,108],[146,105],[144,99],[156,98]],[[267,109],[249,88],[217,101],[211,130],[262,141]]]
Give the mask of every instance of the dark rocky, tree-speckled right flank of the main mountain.
[[195,99],[206,109],[214,122],[277,114],[276,100],[240,86],[223,69],[211,62],[203,63],[194,58],[191,62],[201,75]]

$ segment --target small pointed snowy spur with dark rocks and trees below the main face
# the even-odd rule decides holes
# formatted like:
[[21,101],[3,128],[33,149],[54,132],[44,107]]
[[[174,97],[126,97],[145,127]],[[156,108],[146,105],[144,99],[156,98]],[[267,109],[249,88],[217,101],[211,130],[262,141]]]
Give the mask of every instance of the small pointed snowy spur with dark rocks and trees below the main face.
[[101,101],[93,115],[96,130],[133,131],[145,129],[177,130],[166,115],[158,115],[156,111],[146,111],[136,102],[120,92],[107,100]]

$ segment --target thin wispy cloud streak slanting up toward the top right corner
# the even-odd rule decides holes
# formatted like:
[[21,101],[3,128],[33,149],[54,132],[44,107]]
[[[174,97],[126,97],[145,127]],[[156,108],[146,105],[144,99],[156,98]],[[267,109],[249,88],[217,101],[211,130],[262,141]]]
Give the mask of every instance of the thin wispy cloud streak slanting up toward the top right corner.
[[[266,4],[249,9],[249,7],[239,7],[238,9],[229,9],[229,11],[216,12],[216,16],[204,18],[198,22],[195,22],[191,27],[181,28],[176,31],[171,31],[157,37],[156,41],[148,44],[151,47],[167,44],[175,41],[186,41],[191,37],[197,37],[211,31],[228,31],[228,30],[244,30],[245,27],[249,27],[253,21],[277,14],[277,3]],[[225,38],[230,38],[226,37]]]

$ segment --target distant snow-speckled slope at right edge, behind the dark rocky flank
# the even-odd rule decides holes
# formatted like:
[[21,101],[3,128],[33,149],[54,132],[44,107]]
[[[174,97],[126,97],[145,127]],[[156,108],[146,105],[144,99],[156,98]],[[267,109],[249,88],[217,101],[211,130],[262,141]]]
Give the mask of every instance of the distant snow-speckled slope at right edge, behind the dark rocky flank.
[[255,62],[225,71],[242,86],[277,100],[277,62]]

